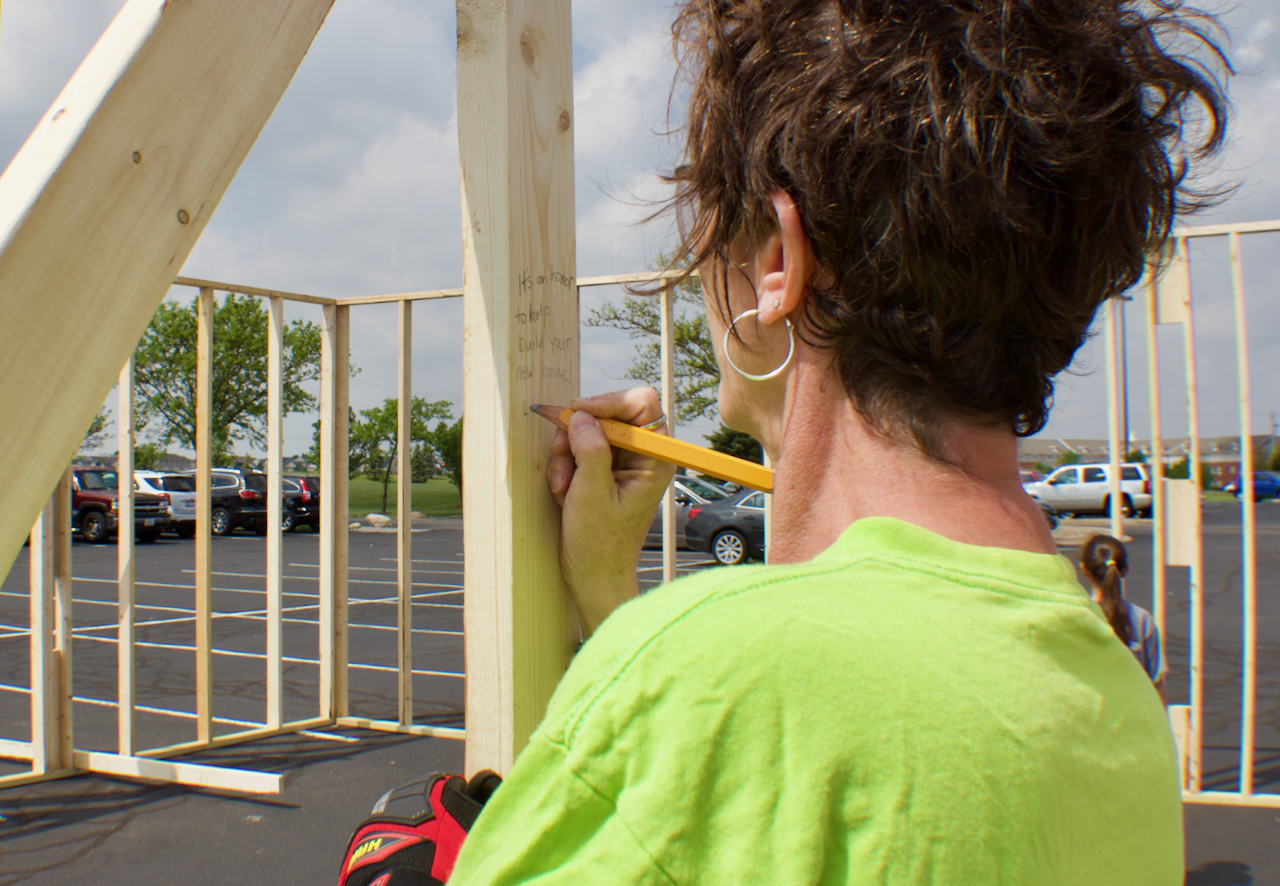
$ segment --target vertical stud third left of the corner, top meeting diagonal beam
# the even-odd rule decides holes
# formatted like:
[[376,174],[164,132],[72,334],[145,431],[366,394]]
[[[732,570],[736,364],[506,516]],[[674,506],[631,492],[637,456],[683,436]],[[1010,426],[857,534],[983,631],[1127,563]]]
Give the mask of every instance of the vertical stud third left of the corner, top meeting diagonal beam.
[[116,513],[120,528],[116,535],[116,753],[133,753],[133,577],[134,577],[134,538],[133,538],[133,356],[131,355],[120,370],[116,383]]

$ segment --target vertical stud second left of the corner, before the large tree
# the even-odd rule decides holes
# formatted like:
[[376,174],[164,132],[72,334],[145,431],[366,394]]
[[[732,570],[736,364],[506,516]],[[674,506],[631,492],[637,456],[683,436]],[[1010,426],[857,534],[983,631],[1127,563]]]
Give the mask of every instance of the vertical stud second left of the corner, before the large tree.
[[212,736],[214,291],[196,297],[196,739]]

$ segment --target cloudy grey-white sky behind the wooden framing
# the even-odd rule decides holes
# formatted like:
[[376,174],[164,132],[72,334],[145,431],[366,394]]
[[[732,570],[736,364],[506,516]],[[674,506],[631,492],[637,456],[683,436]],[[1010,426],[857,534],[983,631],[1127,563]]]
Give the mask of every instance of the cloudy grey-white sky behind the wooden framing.
[[[20,147],[123,0],[4,0],[0,14],[0,164]],[[454,10],[443,0],[337,0],[257,145],[223,198],[183,274],[323,296],[461,286]],[[637,198],[655,193],[669,164],[659,133],[672,65],[663,0],[575,0],[579,277],[643,270],[669,229],[639,227]],[[1280,218],[1280,0],[1243,0],[1224,13],[1239,76],[1231,143],[1216,175],[1238,186],[1206,222]],[[1238,429],[1234,318],[1225,239],[1201,241],[1196,260],[1197,350],[1204,434]],[[1280,234],[1244,239],[1253,421],[1280,412]],[[175,288],[172,298],[193,293]],[[584,291],[582,312],[617,292]],[[319,309],[289,305],[289,318]],[[1129,306],[1134,435],[1147,433],[1142,305]],[[415,393],[461,408],[461,305],[415,311]],[[396,394],[394,306],[356,309],[352,405]],[[1161,330],[1166,434],[1181,433],[1181,338]],[[616,387],[631,347],[585,329],[582,388]],[[1103,437],[1103,373],[1087,348],[1059,385],[1047,435]],[[285,452],[310,447],[311,417],[287,424]],[[710,425],[685,429],[700,440]]]

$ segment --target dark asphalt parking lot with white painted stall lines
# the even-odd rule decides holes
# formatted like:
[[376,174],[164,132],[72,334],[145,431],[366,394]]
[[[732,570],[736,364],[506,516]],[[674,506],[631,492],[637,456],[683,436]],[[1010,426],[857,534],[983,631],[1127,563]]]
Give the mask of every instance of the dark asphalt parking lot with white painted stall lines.
[[[1229,503],[1206,506],[1206,787],[1239,778],[1239,522]],[[1079,521],[1060,533],[1089,531]],[[1094,521],[1087,521],[1093,524]],[[462,533],[426,521],[413,536],[415,712],[420,723],[462,725]],[[1128,594],[1149,608],[1151,529],[1129,524]],[[1280,506],[1258,508],[1257,790],[1280,791]],[[1078,542],[1075,542],[1078,543]],[[1062,553],[1074,554],[1073,545]],[[317,711],[317,538],[285,536],[285,714]],[[115,547],[76,543],[73,563],[77,746],[114,750]],[[396,716],[394,534],[351,536],[351,707]],[[682,553],[686,568],[708,561]],[[192,718],[193,549],[166,536],[140,545],[137,688],[140,746],[195,737]],[[265,542],[214,539],[215,730],[265,716]],[[645,552],[641,577],[658,575]],[[1188,604],[1170,570],[1166,645],[1170,702],[1187,695]],[[24,739],[29,716],[27,563],[0,588],[0,734]],[[193,755],[285,773],[279,796],[246,799],[110,778],[69,778],[0,791],[0,886],[100,882],[329,882],[352,826],[390,786],[431,769],[460,769],[462,745],[356,730],[282,736]],[[19,767],[0,762],[0,773]],[[23,767],[24,768],[24,767]],[[1187,883],[1280,882],[1280,810],[1187,807]]]

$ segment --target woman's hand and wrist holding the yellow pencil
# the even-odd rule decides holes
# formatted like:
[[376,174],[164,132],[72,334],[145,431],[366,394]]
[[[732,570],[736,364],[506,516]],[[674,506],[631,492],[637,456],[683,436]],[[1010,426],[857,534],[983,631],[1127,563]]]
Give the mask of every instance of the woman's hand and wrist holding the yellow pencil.
[[[613,449],[596,419],[645,425],[662,417],[658,392],[631,388],[570,402],[568,430],[557,430],[547,481],[564,508],[561,567],[582,632],[590,636],[613,609],[640,593],[636,566],[673,465]],[[666,433],[664,428],[658,429]]]

